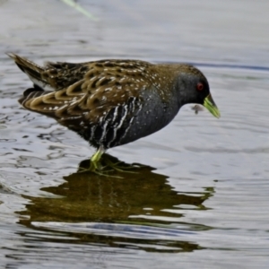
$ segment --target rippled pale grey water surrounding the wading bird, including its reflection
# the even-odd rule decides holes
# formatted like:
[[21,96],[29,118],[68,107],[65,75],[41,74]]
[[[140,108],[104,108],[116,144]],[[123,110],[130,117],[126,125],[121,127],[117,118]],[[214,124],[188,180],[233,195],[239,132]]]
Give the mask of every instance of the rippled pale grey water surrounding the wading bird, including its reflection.
[[[268,268],[269,2],[0,0],[1,268]],[[104,57],[188,62],[221,118],[192,106],[157,134],[110,150],[144,165],[77,173],[93,149],[21,108],[41,64]],[[81,163],[82,162],[82,163]]]

